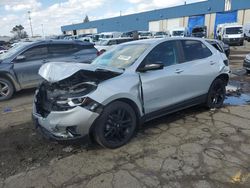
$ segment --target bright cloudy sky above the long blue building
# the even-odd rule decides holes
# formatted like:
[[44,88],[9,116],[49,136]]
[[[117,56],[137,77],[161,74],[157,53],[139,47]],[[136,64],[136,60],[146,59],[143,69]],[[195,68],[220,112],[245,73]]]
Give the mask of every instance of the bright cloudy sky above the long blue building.
[[[0,36],[11,35],[15,25],[23,25],[30,35],[27,11],[31,11],[34,34],[60,34],[62,25],[115,17],[184,4],[185,0],[0,0]],[[204,0],[186,0],[187,3]]]

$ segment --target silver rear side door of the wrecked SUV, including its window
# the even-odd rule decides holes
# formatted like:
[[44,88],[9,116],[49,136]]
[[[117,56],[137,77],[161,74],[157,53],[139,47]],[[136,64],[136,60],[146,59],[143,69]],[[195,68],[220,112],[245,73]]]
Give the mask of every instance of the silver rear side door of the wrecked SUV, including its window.
[[182,98],[205,97],[216,75],[219,73],[217,54],[199,40],[182,40],[183,59],[180,73],[185,82]]

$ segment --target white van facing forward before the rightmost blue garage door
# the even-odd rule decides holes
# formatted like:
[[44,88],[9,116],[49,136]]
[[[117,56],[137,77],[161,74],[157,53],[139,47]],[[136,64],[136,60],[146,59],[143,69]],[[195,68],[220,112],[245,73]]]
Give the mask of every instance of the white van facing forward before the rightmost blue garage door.
[[224,24],[220,36],[225,44],[240,46],[244,44],[243,26],[237,23]]

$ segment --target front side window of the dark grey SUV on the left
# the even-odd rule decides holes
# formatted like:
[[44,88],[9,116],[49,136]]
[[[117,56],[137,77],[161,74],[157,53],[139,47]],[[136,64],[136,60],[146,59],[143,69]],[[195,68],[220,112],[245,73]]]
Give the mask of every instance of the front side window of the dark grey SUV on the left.
[[48,48],[46,45],[32,47],[21,55],[25,56],[25,61],[44,59],[48,57]]

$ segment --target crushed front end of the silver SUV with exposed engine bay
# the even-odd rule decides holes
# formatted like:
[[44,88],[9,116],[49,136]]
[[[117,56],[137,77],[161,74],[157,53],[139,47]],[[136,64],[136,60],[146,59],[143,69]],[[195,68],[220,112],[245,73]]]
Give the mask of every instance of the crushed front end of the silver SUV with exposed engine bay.
[[53,75],[55,72],[46,74],[45,78],[50,79],[45,80],[36,91],[33,105],[36,126],[45,129],[57,140],[78,138],[89,133],[103,106],[88,94],[94,92],[102,81],[121,74],[100,68],[75,71],[62,80]]

